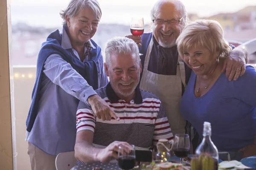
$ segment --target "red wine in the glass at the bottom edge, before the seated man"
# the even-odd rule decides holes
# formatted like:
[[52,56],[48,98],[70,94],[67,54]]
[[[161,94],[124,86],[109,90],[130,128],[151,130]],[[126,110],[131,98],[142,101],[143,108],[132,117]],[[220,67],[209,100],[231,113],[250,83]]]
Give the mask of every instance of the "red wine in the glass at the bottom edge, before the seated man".
[[118,157],[118,165],[123,170],[130,170],[135,166],[135,156],[122,155]]

